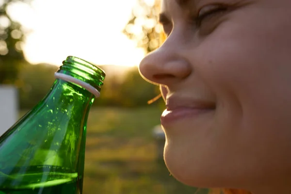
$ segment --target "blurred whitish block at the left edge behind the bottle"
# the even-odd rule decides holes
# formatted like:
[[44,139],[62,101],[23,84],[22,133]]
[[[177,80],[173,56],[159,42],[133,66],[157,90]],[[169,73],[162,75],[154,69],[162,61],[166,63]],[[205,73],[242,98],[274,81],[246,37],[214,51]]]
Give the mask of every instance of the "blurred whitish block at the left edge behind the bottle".
[[9,129],[18,118],[17,89],[10,85],[0,85],[0,136]]

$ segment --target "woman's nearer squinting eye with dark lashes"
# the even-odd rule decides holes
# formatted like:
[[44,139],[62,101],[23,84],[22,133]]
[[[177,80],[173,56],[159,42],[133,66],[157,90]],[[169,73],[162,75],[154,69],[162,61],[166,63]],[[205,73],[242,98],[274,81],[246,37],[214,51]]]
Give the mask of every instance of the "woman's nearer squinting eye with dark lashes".
[[221,14],[227,11],[227,7],[221,4],[212,4],[202,7],[198,15],[195,17],[196,25],[199,27],[204,19],[214,16],[216,14]]

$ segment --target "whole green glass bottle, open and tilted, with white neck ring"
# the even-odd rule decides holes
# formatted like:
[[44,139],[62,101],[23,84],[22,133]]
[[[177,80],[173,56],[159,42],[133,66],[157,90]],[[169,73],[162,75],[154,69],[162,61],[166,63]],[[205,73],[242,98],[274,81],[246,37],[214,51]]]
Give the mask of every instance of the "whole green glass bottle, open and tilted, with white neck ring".
[[87,117],[105,73],[69,56],[55,77],[0,137],[0,194],[82,194]]

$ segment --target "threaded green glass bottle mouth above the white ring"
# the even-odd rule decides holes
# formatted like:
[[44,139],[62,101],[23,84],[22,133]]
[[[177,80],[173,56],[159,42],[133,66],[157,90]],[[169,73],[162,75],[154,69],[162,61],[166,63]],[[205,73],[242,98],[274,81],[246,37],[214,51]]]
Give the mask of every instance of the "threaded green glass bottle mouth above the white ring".
[[104,70],[100,67],[74,56],[68,56],[57,73],[66,74],[90,84],[99,92],[106,76]]

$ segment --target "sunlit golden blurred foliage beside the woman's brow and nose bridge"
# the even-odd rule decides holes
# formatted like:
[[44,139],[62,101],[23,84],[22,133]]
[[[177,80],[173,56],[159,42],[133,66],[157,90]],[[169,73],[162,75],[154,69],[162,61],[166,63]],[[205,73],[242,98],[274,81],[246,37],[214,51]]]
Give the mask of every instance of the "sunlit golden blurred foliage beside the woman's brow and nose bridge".
[[138,47],[144,48],[146,52],[151,52],[160,46],[159,5],[159,0],[137,0],[131,19],[123,30],[130,39],[137,42]]

